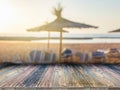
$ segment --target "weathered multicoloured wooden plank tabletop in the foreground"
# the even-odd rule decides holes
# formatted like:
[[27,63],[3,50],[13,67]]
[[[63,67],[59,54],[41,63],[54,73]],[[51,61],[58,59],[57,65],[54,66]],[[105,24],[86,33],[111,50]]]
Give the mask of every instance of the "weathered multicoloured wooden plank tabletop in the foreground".
[[120,65],[1,65],[0,68],[0,89],[120,89]]

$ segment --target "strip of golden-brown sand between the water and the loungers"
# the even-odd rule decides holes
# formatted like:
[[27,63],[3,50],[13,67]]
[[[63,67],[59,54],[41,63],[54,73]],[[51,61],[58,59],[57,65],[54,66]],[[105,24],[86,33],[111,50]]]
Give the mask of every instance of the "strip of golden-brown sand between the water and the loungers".
[[[28,50],[43,50],[47,49],[47,43],[37,43],[37,42],[22,42],[22,41],[0,41],[0,53],[6,52],[6,50],[11,50],[12,52],[26,52]],[[74,43],[74,44],[63,44],[64,48],[70,48],[73,53],[75,52],[92,52],[97,49],[108,50],[110,48],[120,48],[120,43]],[[53,52],[59,52],[59,44],[51,43],[50,50]]]

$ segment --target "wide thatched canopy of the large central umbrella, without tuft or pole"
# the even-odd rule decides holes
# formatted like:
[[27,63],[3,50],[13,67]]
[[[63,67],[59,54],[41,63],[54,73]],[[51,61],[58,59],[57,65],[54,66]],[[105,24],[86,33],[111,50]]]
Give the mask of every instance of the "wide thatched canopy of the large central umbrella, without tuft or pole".
[[73,22],[73,21],[67,20],[65,18],[59,17],[48,24],[28,29],[28,31],[39,32],[41,30],[42,31],[44,31],[44,30],[49,31],[50,30],[51,32],[52,31],[59,32],[60,28],[97,28],[97,27],[92,26],[92,25],[83,24],[83,23]]

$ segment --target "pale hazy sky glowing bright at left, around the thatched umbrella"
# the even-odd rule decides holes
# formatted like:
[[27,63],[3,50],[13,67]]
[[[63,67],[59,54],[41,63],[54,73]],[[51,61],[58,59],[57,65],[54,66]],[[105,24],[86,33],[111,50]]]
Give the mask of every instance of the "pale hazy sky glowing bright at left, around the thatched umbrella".
[[107,33],[120,28],[120,0],[0,0],[0,35],[33,34],[26,30],[53,21],[53,7],[61,3],[66,19],[98,26],[67,29],[70,33]]

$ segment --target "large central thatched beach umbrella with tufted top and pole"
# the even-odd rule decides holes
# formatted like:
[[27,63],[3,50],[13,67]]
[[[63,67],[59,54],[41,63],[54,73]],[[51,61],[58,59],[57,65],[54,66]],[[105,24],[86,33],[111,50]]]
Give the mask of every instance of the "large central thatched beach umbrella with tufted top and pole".
[[41,30],[48,30],[48,31],[58,31],[60,32],[60,49],[59,49],[59,60],[61,61],[61,53],[62,53],[62,29],[63,28],[97,28],[96,26],[87,25],[84,23],[73,22],[67,20],[61,16],[63,8],[58,5],[57,8],[54,8],[54,14],[56,15],[56,19],[48,24],[35,27],[32,29],[28,29],[28,31],[41,31]]

